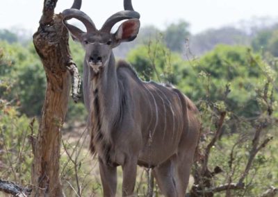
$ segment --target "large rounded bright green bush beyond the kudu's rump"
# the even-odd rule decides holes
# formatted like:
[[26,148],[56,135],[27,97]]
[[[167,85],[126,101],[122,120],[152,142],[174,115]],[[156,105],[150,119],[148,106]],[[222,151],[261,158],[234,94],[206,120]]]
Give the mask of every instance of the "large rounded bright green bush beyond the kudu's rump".
[[213,102],[226,99],[229,110],[233,109],[237,115],[245,117],[259,114],[256,87],[269,75],[275,74],[260,55],[252,53],[245,46],[218,45],[200,58],[193,69],[199,74],[198,80],[194,79],[196,74],[191,72],[184,76],[186,79],[179,85],[183,88],[190,84],[192,89],[197,89],[195,94],[186,92],[190,98]]

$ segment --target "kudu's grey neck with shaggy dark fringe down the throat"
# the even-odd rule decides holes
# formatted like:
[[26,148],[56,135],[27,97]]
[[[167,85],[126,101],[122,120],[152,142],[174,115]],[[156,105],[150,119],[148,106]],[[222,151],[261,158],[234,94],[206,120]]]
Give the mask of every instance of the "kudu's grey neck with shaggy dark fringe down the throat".
[[[90,69],[92,72],[92,69]],[[91,132],[90,151],[110,162],[112,147],[111,132],[122,121],[124,105],[123,85],[117,78],[115,58],[111,53],[108,65],[99,74],[92,74],[90,88],[89,128]],[[97,150],[96,150],[97,149]]]

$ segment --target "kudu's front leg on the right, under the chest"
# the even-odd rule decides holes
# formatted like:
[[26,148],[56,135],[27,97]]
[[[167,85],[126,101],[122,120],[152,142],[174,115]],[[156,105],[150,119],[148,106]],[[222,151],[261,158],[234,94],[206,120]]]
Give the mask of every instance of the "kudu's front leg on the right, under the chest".
[[133,196],[133,190],[136,183],[136,171],[137,159],[126,158],[124,165],[122,165],[122,196]]

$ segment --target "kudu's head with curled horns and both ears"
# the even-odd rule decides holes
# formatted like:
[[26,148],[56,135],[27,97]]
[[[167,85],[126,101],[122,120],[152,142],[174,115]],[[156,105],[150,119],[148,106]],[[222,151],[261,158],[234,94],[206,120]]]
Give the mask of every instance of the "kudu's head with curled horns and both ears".
[[[74,40],[80,42],[85,49],[85,61],[97,74],[108,65],[112,49],[121,42],[129,42],[136,38],[140,28],[140,14],[133,10],[131,0],[124,0],[124,10],[109,17],[100,30],[97,30],[92,19],[81,8],[81,0],[75,0],[72,8],[63,11],[64,24],[70,31]],[[81,21],[86,32],[65,21],[69,19]],[[115,33],[111,33],[113,26],[123,22]]]

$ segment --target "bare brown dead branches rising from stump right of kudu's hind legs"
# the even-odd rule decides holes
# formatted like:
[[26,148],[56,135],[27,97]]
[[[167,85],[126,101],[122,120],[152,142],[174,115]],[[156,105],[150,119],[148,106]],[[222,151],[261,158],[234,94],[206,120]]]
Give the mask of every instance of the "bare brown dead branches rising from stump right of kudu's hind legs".
[[[271,117],[272,115],[272,103],[273,103],[273,90],[271,91],[270,94],[270,98],[268,96],[268,88],[269,88],[269,83],[265,84],[265,87],[263,89],[263,95],[261,95],[263,101],[265,101],[265,104],[267,105],[267,109],[265,110],[265,112],[267,112],[268,117],[263,117],[263,115],[261,117],[257,118],[257,121],[259,121],[259,123],[256,123],[256,128],[254,130],[254,136],[252,139],[252,147],[249,151],[249,157],[247,160],[247,164],[245,166],[245,170],[243,171],[243,173],[241,173],[240,178],[238,179],[238,181],[232,182],[232,174],[234,174],[234,170],[232,169],[232,165],[233,162],[235,160],[234,158],[234,148],[235,146],[238,146],[238,144],[240,143],[237,142],[236,144],[234,144],[232,150],[231,150],[231,154],[230,154],[230,160],[229,160],[229,168],[231,169],[232,173],[229,174],[229,182],[227,184],[224,185],[220,185],[218,187],[211,187],[211,182],[213,181],[213,176],[215,175],[215,173],[221,172],[220,170],[217,170],[214,172],[209,171],[208,169],[208,157],[210,155],[211,152],[211,148],[215,145],[215,142],[218,141],[220,134],[221,134],[221,128],[222,125],[224,123],[224,117],[226,115],[226,112],[222,112],[220,114],[220,118],[218,121],[218,128],[215,132],[215,134],[213,135],[213,138],[211,139],[211,142],[209,142],[209,144],[206,146],[205,148],[205,153],[204,153],[204,158],[203,160],[200,162],[200,168],[198,169],[198,166],[196,167],[197,169],[195,169],[195,185],[193,185],[193,188],[190,191],[190,196],[213,196],[215,193],[217,192],[221,192],[221,191],[227,191],[227,196],[231,196],[231,193],[229,192],[230,190],[236,190],[236,189],[246,189],[248,187],[248,185],[245,185],[245,178],[247,177],[247,175],[250,173],[250,170],[252,169],[252,164],[254,162],[254,158],[256,157],[257,153],[259,153],[259,151],[261,151],[262,148],[264,148],[272,139],[273,137],[267,137],[263,140],[261,140],[261,134],[263,132],[263,130],[265,128],[268,127],[268,119]],[[215,168],[217,169],[217,168]],[[275,194],[278,193],[278,189],[275,187],[271,187],[270,189],[268,189],[268,191],[265,191],[265,193],[262,196],[275,196]]]

